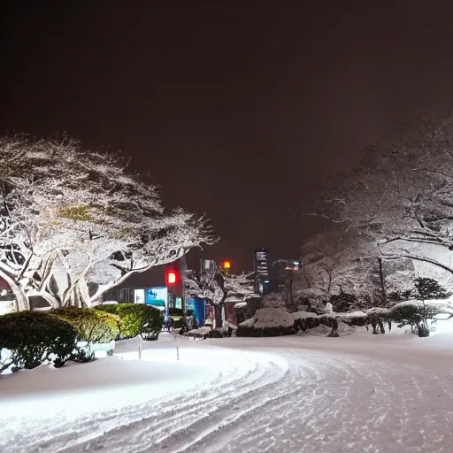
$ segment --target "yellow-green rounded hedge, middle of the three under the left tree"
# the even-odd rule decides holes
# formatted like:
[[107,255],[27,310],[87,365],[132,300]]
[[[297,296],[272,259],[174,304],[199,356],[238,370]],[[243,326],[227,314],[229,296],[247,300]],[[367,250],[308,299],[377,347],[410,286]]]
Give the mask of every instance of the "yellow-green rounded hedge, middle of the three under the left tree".
[[108,312],[68,307],[51,313],[74,326],[80,342],[108,343],[119,334],[119,317]]

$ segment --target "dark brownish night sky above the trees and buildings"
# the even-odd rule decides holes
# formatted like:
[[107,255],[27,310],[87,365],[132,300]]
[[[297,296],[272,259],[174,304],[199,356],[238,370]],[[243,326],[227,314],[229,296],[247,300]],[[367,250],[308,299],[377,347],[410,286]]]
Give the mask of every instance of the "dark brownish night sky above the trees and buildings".
[[242,270],[298,256],[296,198],[392,119],[453,106],[453,4],[220,4],[3,2],[0,130],[124,150]]

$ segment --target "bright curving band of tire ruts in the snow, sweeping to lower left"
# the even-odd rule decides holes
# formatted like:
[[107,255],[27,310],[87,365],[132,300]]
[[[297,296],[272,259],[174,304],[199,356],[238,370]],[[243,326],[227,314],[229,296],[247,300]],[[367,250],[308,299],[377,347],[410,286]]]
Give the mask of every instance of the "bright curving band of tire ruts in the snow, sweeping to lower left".
[[[229,354],[233,352],[230,350]],[[240,398],[255,388],[279,380],[286,366],[279,357],[266,354],[257,356],[253,352],[234,351],[234,357],[234,363],[226,372],[219,373],[216,379],[185,395],[175,393],[170,399],[165,395],[119,410],[89,413],[75,423],[58,423],[54,418],[42,418],[33,429],[30,420],[24,420],[22,428],[15,433],[18,442],[13,446],[10,444],[9,451],[90,451],[96,449],[96,445],[101,448],[106,437],[110,439],[109,443],[118,438],[118,445],[112,449],[109,447],[109,451],[137,451],[131,438],[141,439],[151,429],[150,441],[164,440],[177,426],[189,428],[196,423],[204,412],[200,410],[200,404],[212,411],[215,406],[211,404],[225,405],[234,396]],[[231,356],[226,355],[225,359],[231,359]],[[238,361],[240,365],[236,365]],[[241,387],[242,390],[238,391]]]

